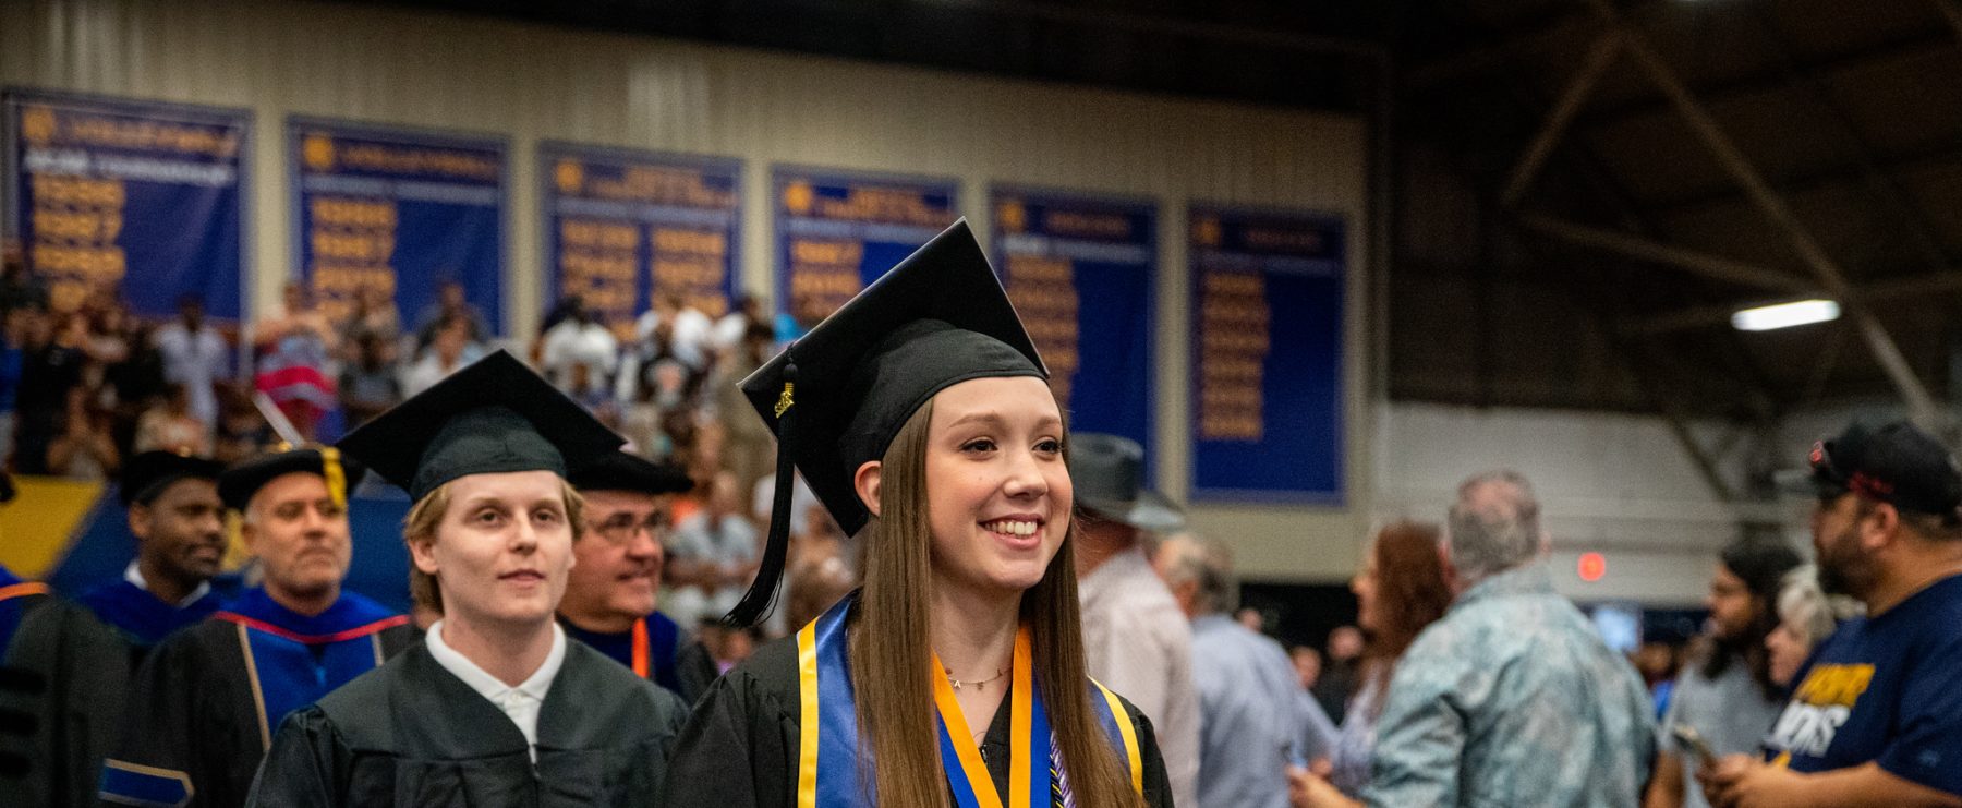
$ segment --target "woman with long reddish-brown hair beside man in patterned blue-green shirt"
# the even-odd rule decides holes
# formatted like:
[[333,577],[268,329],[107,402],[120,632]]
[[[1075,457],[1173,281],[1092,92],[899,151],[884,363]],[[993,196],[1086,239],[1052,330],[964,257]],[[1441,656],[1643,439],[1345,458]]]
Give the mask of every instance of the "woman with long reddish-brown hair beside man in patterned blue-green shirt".
[[1297,806],[1352,806],[1369,784],[1377,720],[1397,663],[1417,635],[1438,622],[1452,604],[1452,588],[1438,559],[1438,528],[1397,522],[1369,541],[1362,569],[1350,581],[1356,622],[1368,631],[1358,659],[1362,681],[1344,710],[1342,730],[1326,761],[1291,773]]

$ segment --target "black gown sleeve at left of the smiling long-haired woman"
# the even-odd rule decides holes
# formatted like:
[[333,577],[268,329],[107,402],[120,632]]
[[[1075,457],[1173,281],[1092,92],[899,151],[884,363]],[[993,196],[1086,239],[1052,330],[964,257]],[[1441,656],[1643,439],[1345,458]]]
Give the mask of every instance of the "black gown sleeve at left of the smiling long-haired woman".
[[769,643],[708,686],[669,759],[667,808],[795,804],[800,737],[795,653],[797,645]]

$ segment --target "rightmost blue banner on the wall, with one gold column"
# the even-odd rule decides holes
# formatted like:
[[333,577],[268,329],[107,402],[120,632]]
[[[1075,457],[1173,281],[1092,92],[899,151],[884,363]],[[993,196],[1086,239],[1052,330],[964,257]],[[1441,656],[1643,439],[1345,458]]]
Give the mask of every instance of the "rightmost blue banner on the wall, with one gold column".
[[1189,216],[1193,498],[1340,504],[1342,220]]

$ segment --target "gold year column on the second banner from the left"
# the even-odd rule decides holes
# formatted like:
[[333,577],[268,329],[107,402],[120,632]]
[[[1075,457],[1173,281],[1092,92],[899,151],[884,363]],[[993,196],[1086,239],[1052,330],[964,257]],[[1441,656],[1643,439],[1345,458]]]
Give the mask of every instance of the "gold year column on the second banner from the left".
[[314,300],[330,322],[345,320],[367,288],[394,296],[400,212],[392,200],[314,196],[306,200],[306,214],[308,277]]

